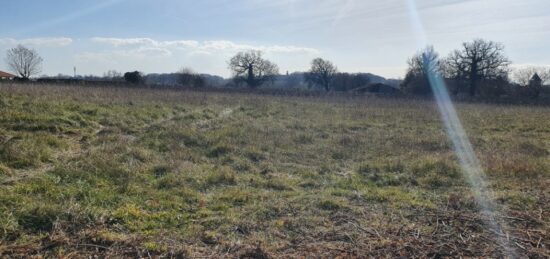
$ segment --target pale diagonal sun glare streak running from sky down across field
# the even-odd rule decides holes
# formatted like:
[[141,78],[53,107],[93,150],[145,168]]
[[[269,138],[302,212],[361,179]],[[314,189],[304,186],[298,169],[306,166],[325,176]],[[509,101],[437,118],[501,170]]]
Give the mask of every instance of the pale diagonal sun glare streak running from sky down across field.
[[[428,41],[415,0],[407,0],[407,6],[409,9],[413,30],[417,37],[418,47],[423,48],[428,45]],[[438,70],[434,67],[436,64],[434,64],[429,57],[424,55],[423,62],[425,70],[427,71],[428,81],[434,93],[441,118],[445,125],[447,136],[453,144],[455,154],[462,168],[462,173],[472,188],[474,198],[479,206],[483,219],[493,232],[497,242],[501,245],[501,247],[505,248],[506,256],[516,258],[516,251],[510,245],[509,239],[505,238],[506,234],[503,232],[501,225],[495,217],[497,211],[495,204],[490,198],[491,192],[487,187],[485,174],[481,168],[481,164],[475,154],[468,135],[460,122],[460,118],[458,117],[456,109],[447,91],[445,81],[437,72]]]

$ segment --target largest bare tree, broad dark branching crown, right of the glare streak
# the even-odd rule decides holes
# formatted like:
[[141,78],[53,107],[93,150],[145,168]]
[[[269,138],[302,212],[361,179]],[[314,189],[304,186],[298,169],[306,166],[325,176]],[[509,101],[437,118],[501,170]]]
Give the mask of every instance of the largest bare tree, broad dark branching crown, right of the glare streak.
[[469,93],[474,96],[478,83],[507,75],[510,61],[504,56],[504,46],[493,41],[476,39],[465,42],[446,60],[446,74],[468,81]]

